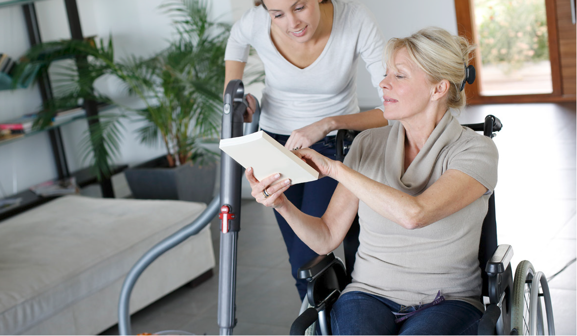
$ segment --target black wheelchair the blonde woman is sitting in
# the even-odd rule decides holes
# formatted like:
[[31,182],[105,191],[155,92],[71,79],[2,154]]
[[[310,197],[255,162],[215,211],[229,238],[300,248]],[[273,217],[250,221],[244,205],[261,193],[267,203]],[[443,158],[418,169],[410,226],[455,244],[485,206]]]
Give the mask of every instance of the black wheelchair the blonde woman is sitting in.
[[[493,138],[493,132],[500,131],[502,127],[500,120],[492,115],[486,116],[484,123],[463,126],[482,131],[489,138]],[[338,160],[344,158],[343,140],[352,141],[358,133],[339,130],[336,137]],[[312,335],[317,323],[321,334],[331,334],[331,307],[351,282],[359,246],[359,229],[357,216],[343,241],[344,264],[331,252],[317,256],[298,270],[298,277],[308,281],[308,289],[301,312],[291,326],[291,335]],[[497,246],[494,192],[489,198],[488,212],[482,225],[478,256],[483,283],[479,300],[486,308],[479,320],[478,334],[544,335],[544,304],[548,334],[554,335],[553,309],[545,275],[535,272],[529,261],[520,262],[513,273],[512,247],[506,244]]]

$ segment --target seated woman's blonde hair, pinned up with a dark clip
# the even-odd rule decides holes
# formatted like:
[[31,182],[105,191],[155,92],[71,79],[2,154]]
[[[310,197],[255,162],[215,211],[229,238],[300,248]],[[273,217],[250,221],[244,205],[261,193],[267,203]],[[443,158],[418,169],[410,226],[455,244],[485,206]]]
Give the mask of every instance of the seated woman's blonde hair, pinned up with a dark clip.
[[452,35],[443,28],[428,27],[409,37],[390,39],[385,47],[385,59],[392,60],[395,52],[406,48],[411,59],[425,71],[433,83],[447,80],[447,106],[460,110],[467,104],[464,90],[465,68],[469,65],[474,46],[462,36]]

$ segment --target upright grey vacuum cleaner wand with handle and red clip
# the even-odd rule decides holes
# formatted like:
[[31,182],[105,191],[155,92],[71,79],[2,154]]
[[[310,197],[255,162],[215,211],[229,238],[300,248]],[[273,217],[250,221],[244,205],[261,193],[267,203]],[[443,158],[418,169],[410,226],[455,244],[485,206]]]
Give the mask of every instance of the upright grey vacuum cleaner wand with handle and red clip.
[[[240,80],[230,81],[224,90],[221,139],[235,138],[243,134],[244,85]],[[247,134],[258,128],[260,109],[253,114]],[[236,278],[237,240],[241,229],[241,179],[242,167],[226,153],[220,154],[220,262],[218,290],[218,324],[220,335],[231,335],[237,324]]]

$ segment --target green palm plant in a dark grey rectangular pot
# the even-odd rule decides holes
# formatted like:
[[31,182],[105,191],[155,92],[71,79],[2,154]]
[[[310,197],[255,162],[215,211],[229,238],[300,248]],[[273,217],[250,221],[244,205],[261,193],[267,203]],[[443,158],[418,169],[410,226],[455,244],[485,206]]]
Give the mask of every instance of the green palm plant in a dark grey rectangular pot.
[[133,197],[208,202],[218,153],[224,49],[230,27],[208,18],[206,3],[165,5],[178,37],[151,59],[132,59],[117,74],[145,103],[141,142],[160,141],[166,155],[125,172]]

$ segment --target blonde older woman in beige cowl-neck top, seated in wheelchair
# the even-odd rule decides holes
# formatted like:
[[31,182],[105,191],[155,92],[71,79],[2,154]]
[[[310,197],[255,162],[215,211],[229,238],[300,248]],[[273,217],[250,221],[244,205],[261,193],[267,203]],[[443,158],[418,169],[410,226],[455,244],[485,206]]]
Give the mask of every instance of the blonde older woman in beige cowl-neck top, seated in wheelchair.
[[466,103],[471,50],[440,28],[388,42],[384,118],[399,122],[359,134],[344,164],[295,151],[339,182],[322,217],[287,201],[290,181],[271,186],[278,176],[259,182],[246,172],[257,201],[319,254],[339,246],[358,212],[360,245],[353,282],[331,312],[335,334],[476,332],[484,309],[478,244],[498,154],[451,113]]

